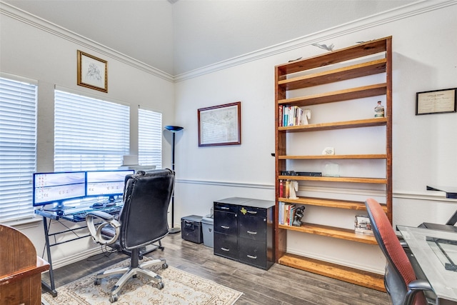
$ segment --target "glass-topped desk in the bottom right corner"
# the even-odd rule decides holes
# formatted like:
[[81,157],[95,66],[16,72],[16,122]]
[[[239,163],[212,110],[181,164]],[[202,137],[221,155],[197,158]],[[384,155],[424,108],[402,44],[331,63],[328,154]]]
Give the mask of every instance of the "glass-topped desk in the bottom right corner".
[[[427,241],[435,238],[457,242],[457,234],[451,231],[409,226],[397,226],[397,228],[431,284],[436,294],[436,304],[457,304],[457,271],[446,270],[442,262],[445,256],[438,254],[441,259],[438,258],[436,253],[439,252],[438,247],[433,245],[433,241]],[[448,247],[448,254],[457,264],[457,259],[454,259],[457,257],[457,245]]]

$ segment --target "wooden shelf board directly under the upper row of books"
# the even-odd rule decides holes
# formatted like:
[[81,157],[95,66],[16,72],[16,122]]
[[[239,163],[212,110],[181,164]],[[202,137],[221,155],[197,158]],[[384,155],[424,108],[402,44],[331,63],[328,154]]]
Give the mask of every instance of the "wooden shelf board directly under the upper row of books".
[[338,122],[331,122],[331,123],[318,123],[318,124],[308,124],[308,125],[280,126],[280,127],[278,127],[278,131],[287,131],[287,132],[322,131],[322,130],[346,129],[346,128],[356,128],[356,127],[385,126],[386,124],[387,124],[387,118],[374,118],[374,119],[338,121]]

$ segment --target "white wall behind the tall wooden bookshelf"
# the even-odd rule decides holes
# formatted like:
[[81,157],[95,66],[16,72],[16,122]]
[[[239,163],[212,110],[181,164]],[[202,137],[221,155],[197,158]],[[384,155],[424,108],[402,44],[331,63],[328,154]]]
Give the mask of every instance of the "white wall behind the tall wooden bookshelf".
[[[426,191],[426,185],[457,186],[457,114],[415,115],[416,92],[457,86],[457,5],[452,1],[451,6],[430,7],[437,4],[428,1],[411,6],[409,11],[356,21],[304,37],[295,41],[295,46],[286,44],[282,51],[272,48],[266,56],[246,56],[246,60],[238,60],[242,64],[232,66],[227,62],[225,69],[215,67],[209,74],[179,81],[176,121],[185,129],[177,144],[176,218],[207,214],[214,200],[228,196],[274,200],[271,153],[275,65],[323,54],[325,51],[311,46],[316,41],[341,49],[356,41],[393,36],[393,223],[417,226],[423,221],[445,222],[457,209],[456,201]],[[372,100],[370,111],[377,99]],[[234,101],[241,101],[241,145],[199,147],[197,109]],[[340,151],[350,149],[339,145]],[[326,146],[332,145],[327,138],[321,139],[320,147]],[[338,196],[338,189],[319,191]],[[349,192],[362,201],[378,195],[376,189],[339,192]],[[353,212],[310,207],[305,214],[334,218],[343,226],[352,226]],[[383,273],[385,261],[377,246],[333,239],[329,242],[326,237],[296,232],[289,232],[288,237],[288,251],[293,253]]]

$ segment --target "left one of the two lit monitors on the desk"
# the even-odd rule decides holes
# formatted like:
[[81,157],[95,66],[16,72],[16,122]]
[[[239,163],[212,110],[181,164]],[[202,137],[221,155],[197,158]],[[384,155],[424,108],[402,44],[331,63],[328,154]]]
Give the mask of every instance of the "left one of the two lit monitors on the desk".
[[86,172],[34,173],[34,206],[57,204],[86,196]]

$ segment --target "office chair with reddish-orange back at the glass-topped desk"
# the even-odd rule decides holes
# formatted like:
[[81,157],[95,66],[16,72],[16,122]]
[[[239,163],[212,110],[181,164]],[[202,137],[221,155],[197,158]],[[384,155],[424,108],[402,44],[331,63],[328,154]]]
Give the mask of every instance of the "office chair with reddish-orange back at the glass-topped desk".
[[392,304],[428,304],[423,291],[433,291],[433,289],[428,281],[417,279],[413,266],[383,208],[374,199],[368,199],[365,201],[365,205],[373,234],[387,259],[384,286],[386,286]]

